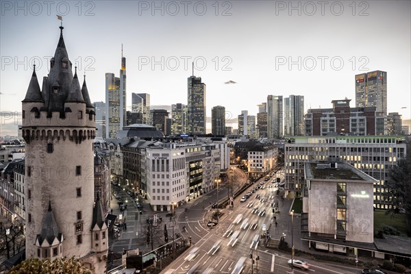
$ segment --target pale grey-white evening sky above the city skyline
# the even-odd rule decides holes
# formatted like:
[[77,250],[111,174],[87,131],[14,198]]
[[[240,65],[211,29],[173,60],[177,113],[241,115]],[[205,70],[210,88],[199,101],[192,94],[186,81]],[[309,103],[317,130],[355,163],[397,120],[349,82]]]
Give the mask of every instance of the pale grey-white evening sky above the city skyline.
[[[410,1],[1,1],[0,136],[16,135],[32,75],[40,87],[63,35],[91,101],[105,101],[105,73],[127,60],[132,92],[151,105],[187,103],[187,77],[206,84],[206,112],[258,112],[267,95],[303,95],[305,111],[355,106],[355,75],[388,75],[388,112],[411,118]],[[225,84],[225,83],[229,84]],[[235,82],[235,83],[232,83]],[[14,125],[14,126],[12,126]]]

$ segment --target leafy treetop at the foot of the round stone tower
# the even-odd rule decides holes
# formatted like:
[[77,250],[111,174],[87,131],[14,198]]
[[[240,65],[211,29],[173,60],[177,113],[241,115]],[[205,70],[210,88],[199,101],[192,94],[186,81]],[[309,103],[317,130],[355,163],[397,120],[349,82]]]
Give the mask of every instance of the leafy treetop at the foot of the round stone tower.
[[49,260],[39,260],[38,258],[25,260],[21,264],[14,266],[8,274],[23,273],[66,273],[66,274],[91,274],[90,269],[82,266],[79,259],[57,258],[50,262]]

